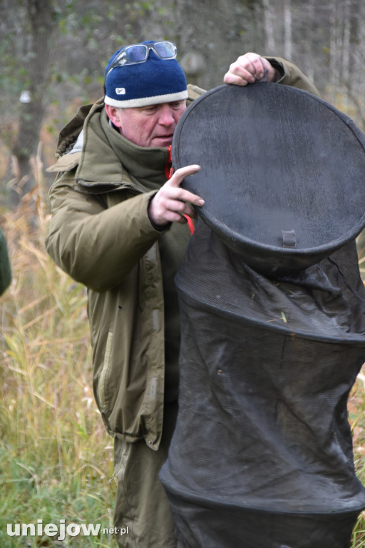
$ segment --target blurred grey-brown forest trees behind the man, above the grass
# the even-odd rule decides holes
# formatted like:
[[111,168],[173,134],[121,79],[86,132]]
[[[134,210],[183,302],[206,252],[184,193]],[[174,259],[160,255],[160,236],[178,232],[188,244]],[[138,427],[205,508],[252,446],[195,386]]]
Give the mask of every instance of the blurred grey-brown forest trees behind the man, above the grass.
[[283,56],[364,126],[363,0],[1,0],[3,193],[16,201],[31,188],[39,143],[52,163],[58,130],[102,96],[111,54],[150,38],[175,41],[188,81],[203,88],[247,51]]

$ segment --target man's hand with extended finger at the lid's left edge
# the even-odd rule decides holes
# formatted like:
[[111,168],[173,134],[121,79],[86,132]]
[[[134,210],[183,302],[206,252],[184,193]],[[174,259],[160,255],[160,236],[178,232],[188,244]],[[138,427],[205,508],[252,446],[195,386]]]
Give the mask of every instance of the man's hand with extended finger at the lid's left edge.
[[148,208],[148,216],[156,226],[167,225],[168,223],[186,223],[183,215],[195,218],[196,213],[190,204],[204,205],[204,200],[183,188],[180,184],[183,178],[193,175],[200,170],[200,166],[192,165],[180,168],[153,196]]

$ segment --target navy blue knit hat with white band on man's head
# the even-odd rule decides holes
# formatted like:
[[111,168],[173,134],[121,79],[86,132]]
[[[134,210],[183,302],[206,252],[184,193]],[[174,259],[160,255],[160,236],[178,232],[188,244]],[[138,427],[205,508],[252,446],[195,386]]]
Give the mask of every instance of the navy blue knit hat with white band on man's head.
[[[153,44],[145,41],[142,44]],[[120,108],[170,103],[187,98],[186,78],[176,59],[160,59],[151,49],[147,61],[109,68],[120,49],[108,62],[105,71],[106,105]]]

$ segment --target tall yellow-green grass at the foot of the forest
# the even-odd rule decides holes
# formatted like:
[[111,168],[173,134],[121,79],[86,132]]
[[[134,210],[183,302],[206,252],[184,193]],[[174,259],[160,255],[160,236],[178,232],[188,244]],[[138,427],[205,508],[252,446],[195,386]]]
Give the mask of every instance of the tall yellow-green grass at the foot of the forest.
[[[91,386],[86,291],[44,248],[48,215],[41,187],[1,218],[13,268],[0,299],[0,546],[115,547],[98,537],[10,537],[6,524],[113,527],[113,440]],[[365,482],[365,375],[349,399],[356,470]],[[365,514],[351,548],[365,548]]]

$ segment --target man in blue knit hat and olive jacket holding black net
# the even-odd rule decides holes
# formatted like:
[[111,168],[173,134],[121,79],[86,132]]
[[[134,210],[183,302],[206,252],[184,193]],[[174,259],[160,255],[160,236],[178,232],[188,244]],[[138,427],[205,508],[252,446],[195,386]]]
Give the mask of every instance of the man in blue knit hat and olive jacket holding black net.
[[[105,97],[61,132],[52,169],[48,253],[88,288],[93,387],[115,439],[120,547],[173,548],[173,522],[158,472],[175,425],[180,318],[173,278],[190,239],[192,205],[180,188],[199,166],[171,175],[170,145],[187,86],[175,45],[147,41],[117,51],[105,71]],[[246,54],[226,83],[264,76],[317,90],[292,64]],[[81,131],[82,130],[82,131]],[[77,139],[77,141],[76,141]]]

